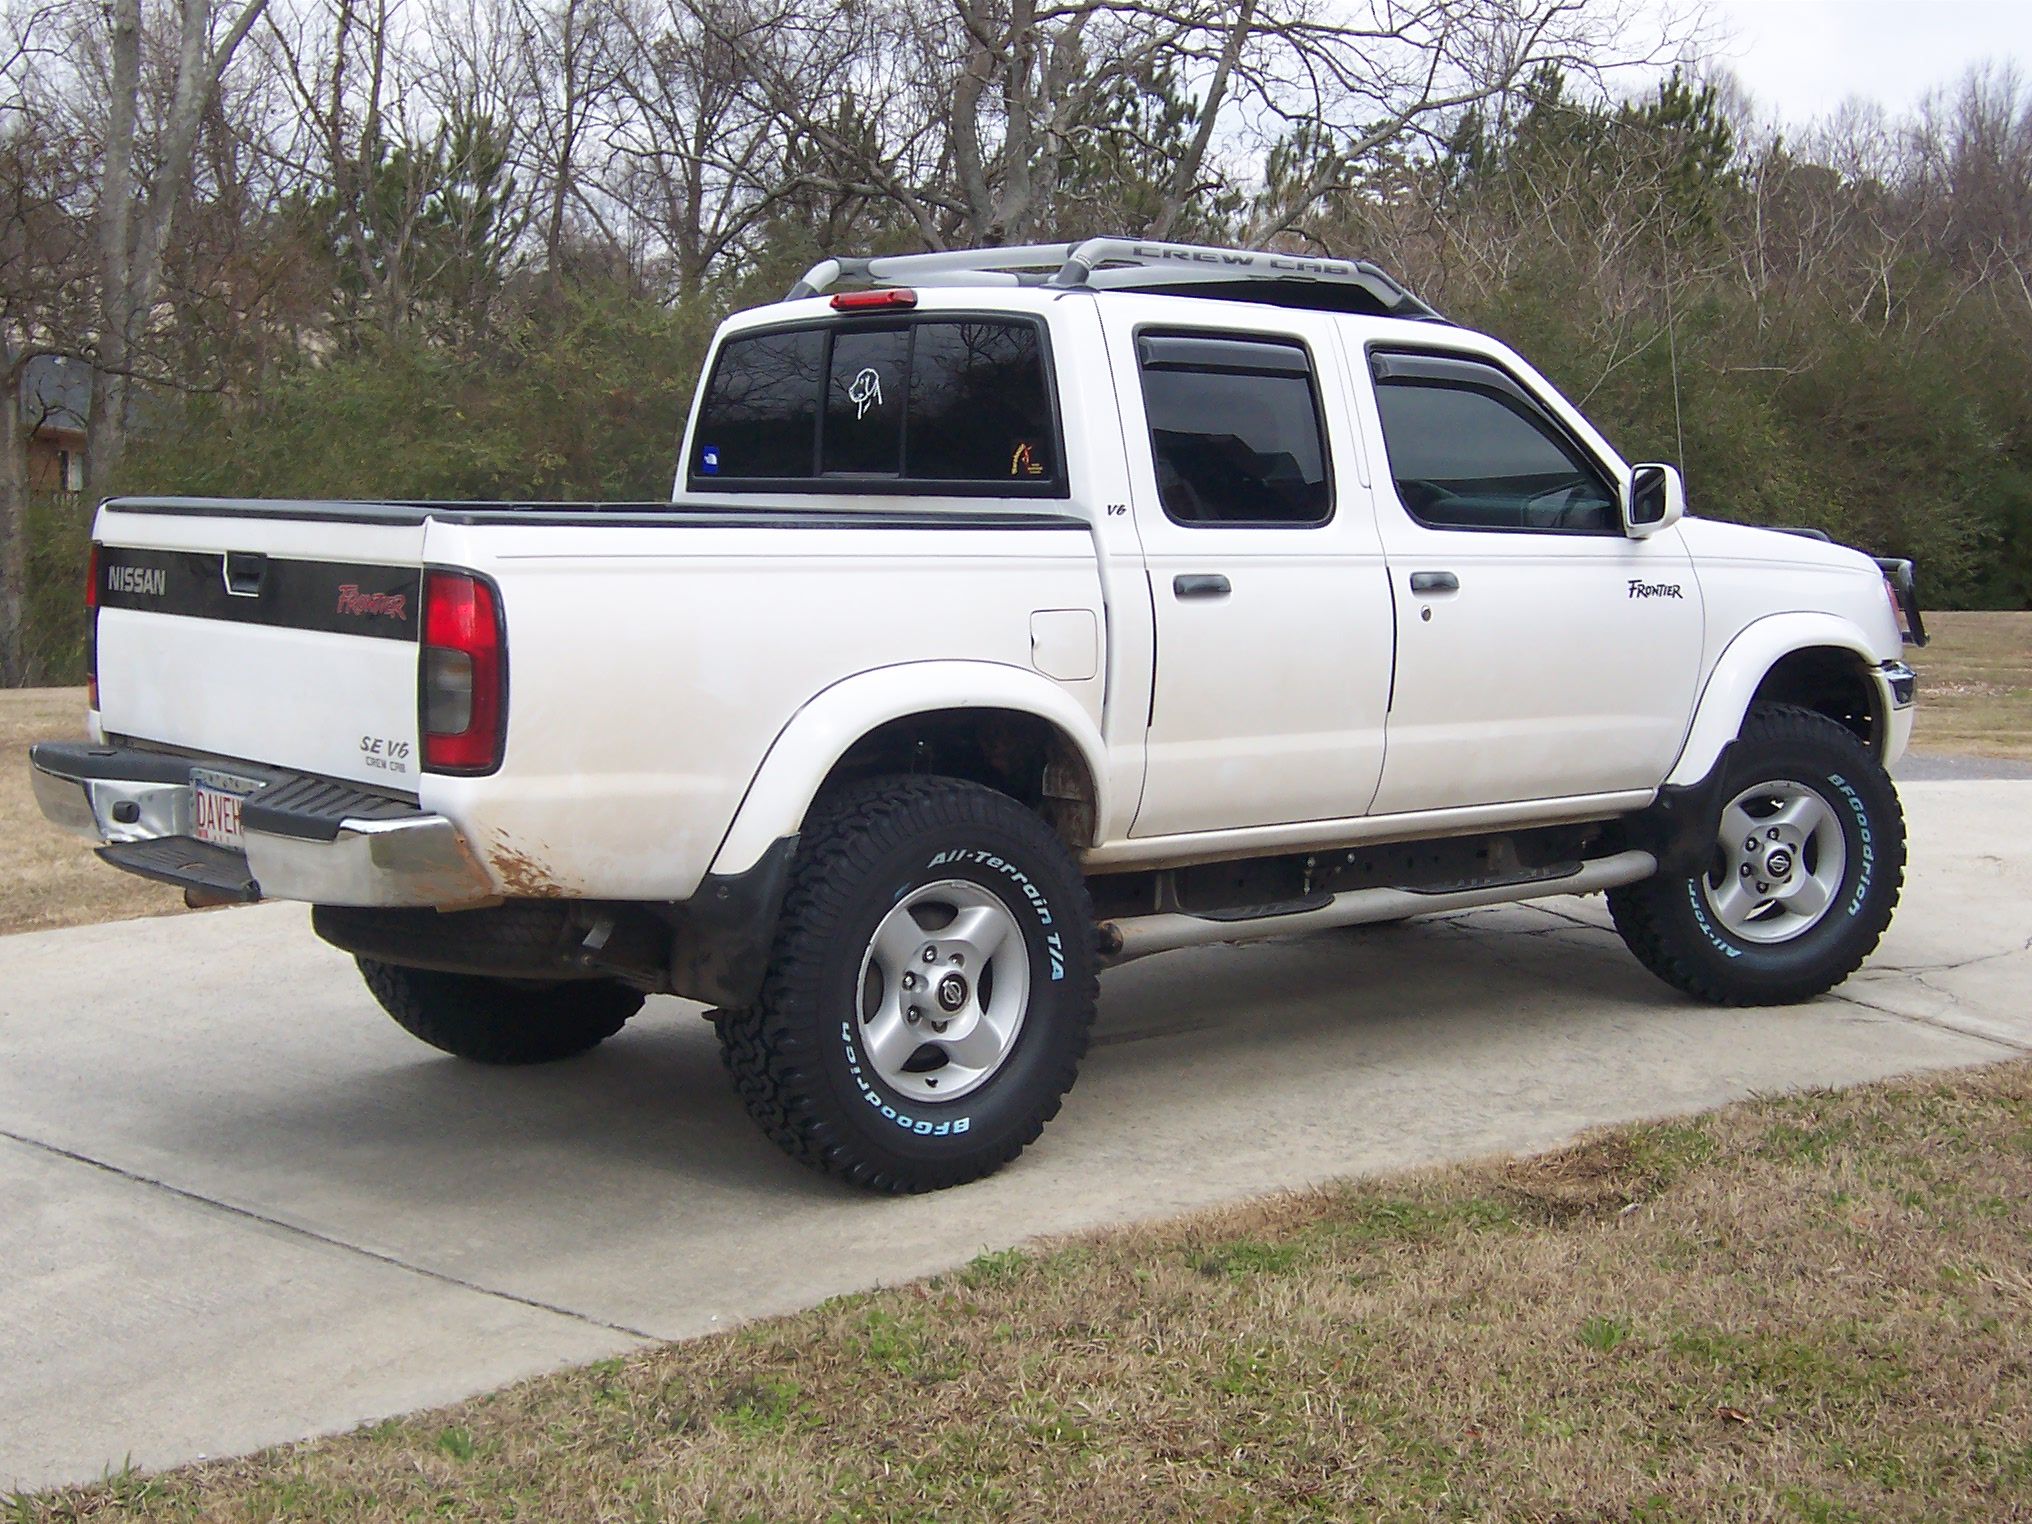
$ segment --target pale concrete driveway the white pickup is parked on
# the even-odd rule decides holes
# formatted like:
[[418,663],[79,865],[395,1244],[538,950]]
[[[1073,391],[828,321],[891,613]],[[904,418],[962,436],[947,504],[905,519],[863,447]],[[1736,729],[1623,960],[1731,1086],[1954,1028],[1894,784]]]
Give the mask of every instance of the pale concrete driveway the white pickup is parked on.
[[1912,878],[1837,996],[1721,1012],[1601,900],[1107,975],[1040,1146],[847,1193],[742,1116],[695,1006],[486,1071],[297,906],[0,939],[0,1491],[165,1467],[803,1307],[988,1248],[1540,1148],[1752,1091],[2032,1053],[2032,782],[1910,782]]

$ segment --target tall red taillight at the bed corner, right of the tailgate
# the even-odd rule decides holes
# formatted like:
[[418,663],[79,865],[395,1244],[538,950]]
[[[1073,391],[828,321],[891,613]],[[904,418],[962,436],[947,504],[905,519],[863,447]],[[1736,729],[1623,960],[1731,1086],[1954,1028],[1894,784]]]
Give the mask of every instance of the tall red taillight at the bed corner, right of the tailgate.
[[492,583],[461,571],[425,573],[419,685],[423,766],[494,772],[508,717],[508,646]]

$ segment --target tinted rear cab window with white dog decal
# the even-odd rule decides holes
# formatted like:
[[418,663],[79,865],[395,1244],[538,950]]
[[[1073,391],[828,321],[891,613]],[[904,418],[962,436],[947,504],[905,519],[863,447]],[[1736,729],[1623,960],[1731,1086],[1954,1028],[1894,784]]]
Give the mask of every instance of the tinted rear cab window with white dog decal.
[[1042,333],[923,317],[729,339],[689,467],[695,488],[1063,496]]

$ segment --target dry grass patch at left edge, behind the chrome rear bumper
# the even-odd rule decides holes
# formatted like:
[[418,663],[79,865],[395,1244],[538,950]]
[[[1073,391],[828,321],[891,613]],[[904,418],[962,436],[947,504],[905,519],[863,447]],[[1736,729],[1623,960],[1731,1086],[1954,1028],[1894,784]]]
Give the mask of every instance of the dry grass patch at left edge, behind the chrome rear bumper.
[[83,689],[0,689],[0,935],[183,910],[177,890],[108,868],[37,809],[28,744],[83,734]]

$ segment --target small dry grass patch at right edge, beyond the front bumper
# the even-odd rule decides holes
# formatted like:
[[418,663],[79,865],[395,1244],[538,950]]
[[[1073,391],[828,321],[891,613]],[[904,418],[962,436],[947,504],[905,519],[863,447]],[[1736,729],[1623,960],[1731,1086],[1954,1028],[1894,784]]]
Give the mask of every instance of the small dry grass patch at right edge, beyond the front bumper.
[[2032,614],[1928,614],[1912,748],[2032,762]]

